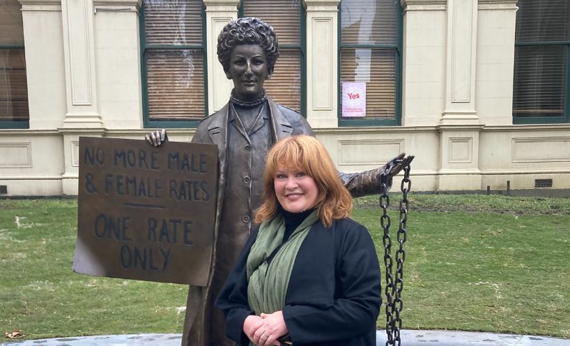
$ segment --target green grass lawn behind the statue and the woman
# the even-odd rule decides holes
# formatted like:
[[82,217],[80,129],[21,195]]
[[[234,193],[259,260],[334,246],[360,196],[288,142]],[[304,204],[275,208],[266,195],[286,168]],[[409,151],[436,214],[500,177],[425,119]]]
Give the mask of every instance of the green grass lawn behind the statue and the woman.
[[[377,206],[357,199],[353,218],[382,258]],[[76,200],[0,200],[0,332],[180,333],[186,287],[73,273],[76,225]],[[404,329],[570,338],[569,200],[410,195],[405,250]]]

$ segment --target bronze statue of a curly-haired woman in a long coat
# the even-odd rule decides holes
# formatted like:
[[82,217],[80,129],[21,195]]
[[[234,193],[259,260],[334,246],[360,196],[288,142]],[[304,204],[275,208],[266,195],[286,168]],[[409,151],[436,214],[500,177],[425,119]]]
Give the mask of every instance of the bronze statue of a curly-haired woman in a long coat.
[[[203,119],[192,142],[217,145],[219,186],[215,218],[215,250],[207,287],[190,287],[183,346],[233,345],[226,338],[224,315],[213,302],[252,230],[255,209],[263,197],[263,170],[275,142],[291,135],[313,135],[309,123],[294,110],[265,95],[263,83],[279,57],[273,28],[256,17],[226,24],[218,36],[217,56],[233,81],[230,101]],[[165,130],[146,135],[155,146],[167,140]],[[404,154],[368,172],[344,174],[340,179],[354,197],[382,192],[380,175],[392,176],[407,165]]]

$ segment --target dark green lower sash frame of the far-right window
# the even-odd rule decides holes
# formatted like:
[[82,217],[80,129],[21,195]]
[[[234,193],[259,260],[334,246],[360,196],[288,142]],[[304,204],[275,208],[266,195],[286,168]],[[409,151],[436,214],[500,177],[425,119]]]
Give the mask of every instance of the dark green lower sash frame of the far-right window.
[[[566,86],[564,92],[564,115],[563,116],[514,116],[514,125],[524,125],[524,124],[547,124],[547,123],[569,123],[570,122],[570,40],[568,41],[523,41],[516,42],[515,47],[522,46],[549,46],[549,45],[559,45],[566,46],[567,59],[566,59]],[[516,54],[516,50],[515,50]],[[516,58],[515,58],[516,60]],[[514,66],[513,66],[514,68]],[[514,82],[514,76],[513,76]],[[514,95],[513,95],[513,106],[514,106]]]

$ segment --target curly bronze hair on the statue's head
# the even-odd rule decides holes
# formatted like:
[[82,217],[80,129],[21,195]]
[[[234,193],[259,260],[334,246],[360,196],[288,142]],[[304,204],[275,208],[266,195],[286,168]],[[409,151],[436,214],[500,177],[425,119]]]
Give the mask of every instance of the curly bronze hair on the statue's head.
[[237,45],[259,45],[265,50],[269,70],[272,71],[279,57],[279,43],[273,27],[256,17],[232,20],[217,36],[217,59],[224,71],[229,70],[231,51]]

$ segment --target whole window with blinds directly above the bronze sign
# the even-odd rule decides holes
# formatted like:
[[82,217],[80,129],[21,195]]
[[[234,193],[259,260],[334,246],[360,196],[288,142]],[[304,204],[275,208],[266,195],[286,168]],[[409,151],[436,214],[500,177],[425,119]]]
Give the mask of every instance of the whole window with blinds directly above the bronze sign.
[[188,127],[208,113],[201,0],[144,0],[144,126]]

